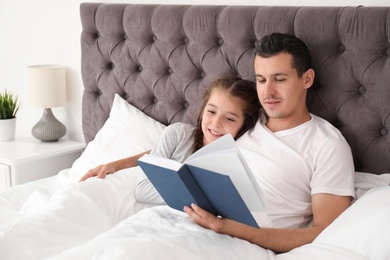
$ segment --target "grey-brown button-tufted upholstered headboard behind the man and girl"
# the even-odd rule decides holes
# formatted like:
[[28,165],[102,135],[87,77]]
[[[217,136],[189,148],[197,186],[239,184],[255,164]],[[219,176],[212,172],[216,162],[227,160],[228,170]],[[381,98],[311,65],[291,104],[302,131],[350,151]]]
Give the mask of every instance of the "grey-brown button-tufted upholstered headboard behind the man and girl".
[[357,171],[390,172],[390,7],[82,3],[83,131],[92,140],[115,93],[164,124],[195,123],[218,76],[254,80],[254,44],[273,31],[308,45],[309,109],[349,142]]

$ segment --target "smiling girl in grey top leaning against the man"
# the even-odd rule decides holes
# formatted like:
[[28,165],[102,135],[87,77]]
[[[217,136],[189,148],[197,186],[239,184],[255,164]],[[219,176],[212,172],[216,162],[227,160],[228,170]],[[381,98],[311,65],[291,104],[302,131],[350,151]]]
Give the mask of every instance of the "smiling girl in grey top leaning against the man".
[[[236,140],[256,124],[260,111],[256,85],[252,81],[225,77],[215,80],[206,89],[196,127],[175,123],[164,129],[151,154],[184,162],[192,153],[230,133]],[[89,170],[80,181],[137,166],[137,159],[150,151],[99,165]],[[138,178],[137,200],[144,203],[164,204],[145,174]]]

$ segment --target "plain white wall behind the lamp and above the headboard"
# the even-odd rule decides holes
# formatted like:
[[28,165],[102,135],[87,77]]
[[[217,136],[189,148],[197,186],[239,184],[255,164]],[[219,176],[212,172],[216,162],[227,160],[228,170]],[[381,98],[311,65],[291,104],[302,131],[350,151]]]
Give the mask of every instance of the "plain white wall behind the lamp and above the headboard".
[[[80,74],[80,0],[0,0],[0,91],[18,94],[22,107],[17,115],[16,136],[30,131],[43,110],[28,105],[26,67],[33,64],[61,64],[67,68],[68,102],[54,108],[56,117],[68,129],[65,138],[83,141],[81,131],[82,81]],[[130,1],[106,0],[106,3]],[[390,6],[389,0],[166,0],[137,1],[148,4],[214,5],[317,5]]]

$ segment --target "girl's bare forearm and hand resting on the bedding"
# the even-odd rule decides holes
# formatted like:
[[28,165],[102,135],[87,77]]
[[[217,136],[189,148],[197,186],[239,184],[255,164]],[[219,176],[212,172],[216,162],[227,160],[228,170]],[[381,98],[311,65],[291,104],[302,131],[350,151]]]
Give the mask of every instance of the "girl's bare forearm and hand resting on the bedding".
[[138,166],[137,160],[147,153],[150,153],[150,150],[124,159],[109,162],[107,164],[98,165],[95,168],[89,170],[83,177],[81,177],[80,181],[85,181],[86,179],[94,176],[104,179],[107,174]]

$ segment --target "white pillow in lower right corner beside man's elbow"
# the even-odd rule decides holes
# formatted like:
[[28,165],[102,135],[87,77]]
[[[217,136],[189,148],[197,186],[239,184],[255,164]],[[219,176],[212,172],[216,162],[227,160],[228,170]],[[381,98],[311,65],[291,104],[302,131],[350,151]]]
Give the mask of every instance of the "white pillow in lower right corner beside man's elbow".
[[313,242],[367,259],[390,259],[390,187],[373,188],[345,210]]

